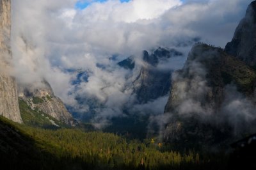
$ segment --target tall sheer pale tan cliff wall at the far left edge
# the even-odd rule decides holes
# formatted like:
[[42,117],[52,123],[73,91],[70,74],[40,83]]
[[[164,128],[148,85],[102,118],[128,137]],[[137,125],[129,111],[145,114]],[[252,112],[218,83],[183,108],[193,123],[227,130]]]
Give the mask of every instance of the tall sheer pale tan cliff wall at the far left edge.
[[17,83],[10,77],[11,1],[0,1],[0,115],[22,123],[17,95]]

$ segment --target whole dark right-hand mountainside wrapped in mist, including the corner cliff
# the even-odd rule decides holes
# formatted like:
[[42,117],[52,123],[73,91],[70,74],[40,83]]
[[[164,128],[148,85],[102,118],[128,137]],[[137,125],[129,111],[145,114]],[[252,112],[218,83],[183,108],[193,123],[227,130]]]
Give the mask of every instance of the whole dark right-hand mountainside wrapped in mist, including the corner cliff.
[[250,4],[225,51],[203,43],[173,73],[164,141],[186,148],[221,148],[256,131],[255,10]]

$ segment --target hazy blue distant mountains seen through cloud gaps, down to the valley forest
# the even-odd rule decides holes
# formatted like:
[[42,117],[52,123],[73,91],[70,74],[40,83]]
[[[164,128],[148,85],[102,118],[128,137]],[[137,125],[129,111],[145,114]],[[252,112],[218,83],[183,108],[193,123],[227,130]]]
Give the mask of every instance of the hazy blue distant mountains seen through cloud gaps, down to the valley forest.
[[[125,85],[125,88],[129,89],[131,95],[135,98],[118,108],[123,116],[113,116],[113,118],[108,119],[110,125],[104,129],[105,132],[129,134],[140,138],[146,137],[149,117],[153,113],[148,110],[143,111],[142,108],[139,108],[140,111],[138,111],[138,108],[133,106],[140,107],[139,105],[147,104],[157,100],[157,98],[168,95],[173,70],[172,68],[163,69],[161,65],[170,62],[169,59],[171,58],[184,56],[179,50],[168,49],[167,47],[159,47],[156,50],[152,50],[152,52],[144,50],[141,54],[141,61],[138,59],[139,56],[130,56],[122,61],[117,61],[116,57],[114,59],[111,58],[111,61],[117,61],[117,66],[124,68],[130,74],[136,73],[137,75],[134,75],[134,79]],[[108,66],[100,66],[99,68],[103,70],[109,69]],[[75,89],[74,93],[76,93],[76,90],[80,90],[79,86],[82,82],[88,82],[90,73],[86,70],[73,73],[76,73],[76,77],[72,80],[72,85]],[[102,102],[97,97],[88,97],[88,95],[82,93],[76,93],[76,101],[79,107],[88,107],[84,109],[83,113],[72,107],[68,107],[68,111],[72,112],[75,118],[84,122],[94,122],[94,118],[97,118],[97,115],[102,114],[104,109],[108,109],[106,108],[106,103],[104,103],[105,101]],[[115,114],[115,111],[113,112]],[[141,112],[144,112],[143,115],[141,115]],[[161,112],[159,111],[159,113]],[[138,133],[138,129],[140,129],[140,133]]]

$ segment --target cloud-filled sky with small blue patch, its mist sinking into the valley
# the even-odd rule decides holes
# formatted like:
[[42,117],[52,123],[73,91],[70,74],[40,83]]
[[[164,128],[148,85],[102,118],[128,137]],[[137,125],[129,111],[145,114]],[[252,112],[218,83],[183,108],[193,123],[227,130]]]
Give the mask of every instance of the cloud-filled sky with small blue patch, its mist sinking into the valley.
[[[105,108],[95,121],[106,121],[122,115],[122,105],[134,100],[127,86],[143,66],[143,50],[180,50],[184,56],[165,66],[182,68],[193,38],[225,47],[250,2],[12,0],[13,75],[20,86],[47,80],[55,95],[81,114],[90,105],[79,105],[77,95],[95,98]],[[109,59],[113,55],[115,61]],[[136,56],[133,72],[116,65],[129,56]],[[89,77],[75,86],[78,70]],[[163,98],[151,103],[159,105],[159,101],[164,108]]]

